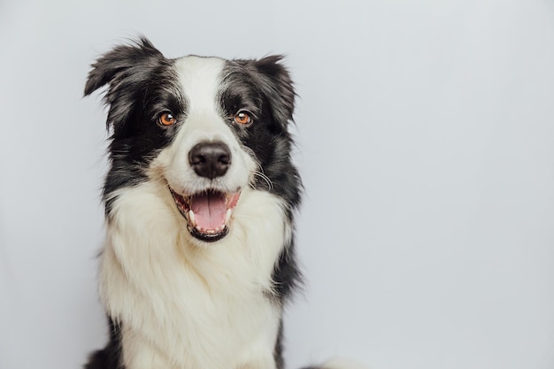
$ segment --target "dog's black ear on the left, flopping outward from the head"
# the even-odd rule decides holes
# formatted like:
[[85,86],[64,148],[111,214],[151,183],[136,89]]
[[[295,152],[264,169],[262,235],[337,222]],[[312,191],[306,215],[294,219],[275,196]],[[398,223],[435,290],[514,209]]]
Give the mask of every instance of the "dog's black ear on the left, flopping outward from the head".
[[148,39],[141,37],[136,42],[119,45],[96,60],[88,73],[84,96],[108,85],[104,103],[110,107],[106,125],[117,130],[135,106],[135,101],[154,67],[165,60]]

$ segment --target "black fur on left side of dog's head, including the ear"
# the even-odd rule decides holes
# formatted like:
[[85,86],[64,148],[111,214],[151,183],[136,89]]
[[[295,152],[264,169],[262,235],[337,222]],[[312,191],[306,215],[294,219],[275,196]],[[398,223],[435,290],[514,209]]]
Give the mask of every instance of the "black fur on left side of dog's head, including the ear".
[[[107,85],[104,103],[109,106],[106,126],[111,130],[108,150],[111,168],[104,183],[105,211],[112,208],[112,192],[146,181],[145,169],[159,150],[172,142],[186,106],[173,69],[145,38],[118,46],[99,58],[90,73],[85,96]],[[170,111],[178,123],[158,123]]]

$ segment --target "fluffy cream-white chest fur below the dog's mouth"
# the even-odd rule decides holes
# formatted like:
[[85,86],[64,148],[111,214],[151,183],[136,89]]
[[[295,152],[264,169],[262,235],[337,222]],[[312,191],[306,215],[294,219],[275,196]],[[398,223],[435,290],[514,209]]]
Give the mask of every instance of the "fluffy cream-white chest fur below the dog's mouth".
[[162,183],[116,195],[100,296],[127,369],[273,369],[281,306],[267,292],[290,236],[279,198],[245,189],[227,237],[199,245]]

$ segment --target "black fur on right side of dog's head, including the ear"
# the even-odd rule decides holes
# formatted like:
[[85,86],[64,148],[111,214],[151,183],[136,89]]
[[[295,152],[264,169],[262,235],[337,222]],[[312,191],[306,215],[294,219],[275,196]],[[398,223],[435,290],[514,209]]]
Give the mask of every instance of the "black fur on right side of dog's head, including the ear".
[[256,176],[254,186],[285,199],[289,216],[300,204],[302,184],[290,151],[293,140],[289,124],[294,112],[295,93],[280,56],[260,60],[227,62],[220,104],[229,117],[238,111],[252,113],[249,125],[233,124],[242,144],[254,153],[265,176]]

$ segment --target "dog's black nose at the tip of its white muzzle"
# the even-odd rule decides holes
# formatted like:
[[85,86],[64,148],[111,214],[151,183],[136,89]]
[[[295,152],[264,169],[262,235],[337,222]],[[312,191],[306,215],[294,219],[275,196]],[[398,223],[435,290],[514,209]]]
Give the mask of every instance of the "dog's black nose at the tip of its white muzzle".
[[231,151],[223,142],[200,142],[190,150],[189,163],[196,174],[212,180],[227,173]]

